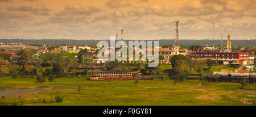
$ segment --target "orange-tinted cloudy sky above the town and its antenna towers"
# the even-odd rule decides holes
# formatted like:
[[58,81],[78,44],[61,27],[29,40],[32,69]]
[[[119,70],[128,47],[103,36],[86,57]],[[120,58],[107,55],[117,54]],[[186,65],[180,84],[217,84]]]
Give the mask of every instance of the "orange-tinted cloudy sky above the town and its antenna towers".
[[0,39],[102,40],[116,28],[118,39],[121,28],[124,40],[174,39],[175,20],[179,39],[256,37],[256,0],[0,0],[0,6]]

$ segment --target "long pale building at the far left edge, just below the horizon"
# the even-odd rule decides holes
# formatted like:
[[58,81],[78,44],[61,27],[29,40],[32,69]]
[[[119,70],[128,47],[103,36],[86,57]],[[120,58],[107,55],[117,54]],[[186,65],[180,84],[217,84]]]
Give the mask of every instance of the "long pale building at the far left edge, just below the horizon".
[[17,51],[24,49],[22,43],[0,43],[0,49],[5,49],[7,51]]

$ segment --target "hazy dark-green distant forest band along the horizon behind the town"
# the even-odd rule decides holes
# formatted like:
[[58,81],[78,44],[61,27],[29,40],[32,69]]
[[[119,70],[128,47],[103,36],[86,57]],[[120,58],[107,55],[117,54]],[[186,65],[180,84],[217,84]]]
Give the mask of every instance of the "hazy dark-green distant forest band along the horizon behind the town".
[[[93,46],[98,43],[100,40],[59,40],[59,39],[43,39],[43,40],[27,40],[27,39],[0,39],[0,42],[2,43],[22,43],[25,45],[35,45],[35,46],[42,46],[42,44],[46,45],[88,45]],[[110,41],[110,40],[106,40]],[[129,41],[129,40],[124,40]],[[134,41],[134,40],[133,40]],[[141,40],[139,40],[141,41]],[[172,45],[174,44],[175,40],[159,40],[159,46],[162,45]],[[127,42],[128,44],[128,42]],[[213,45],[215,47],[220,47],[221,40],[180,40],[180,46],[183,48],[188,48],[191,45]],[[231,43],[232,47],[255,47],[256,46],[256,40],[232,40]],[[226,47],[226,40],[223,40],[223,46]]]

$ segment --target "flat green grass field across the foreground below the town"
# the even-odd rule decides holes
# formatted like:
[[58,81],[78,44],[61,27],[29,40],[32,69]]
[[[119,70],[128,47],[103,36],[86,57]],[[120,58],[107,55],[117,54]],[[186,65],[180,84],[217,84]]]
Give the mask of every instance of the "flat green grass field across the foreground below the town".
[[[256,84],[209,83],[198,80],[86,81],[85,78],[56,78],[53,82],[36,82],[35,78],[0,78],[0,89],[43,87],[77,87],[15,93],[0,99],[0,105],[253,105]],[[204,85],[199,85],[203,83]],[[62,103],[55,97],[63,96]],[[46,103],[43,103],[45,99]],[[52,101],[52,103],[51,103]]]

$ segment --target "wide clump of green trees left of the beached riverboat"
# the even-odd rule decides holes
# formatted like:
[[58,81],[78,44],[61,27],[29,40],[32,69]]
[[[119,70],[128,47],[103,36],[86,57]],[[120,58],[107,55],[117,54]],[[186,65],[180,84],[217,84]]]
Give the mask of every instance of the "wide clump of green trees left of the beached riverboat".
[[[84,76],[86,70],[77,70],[77,58],[68,52],[46,55],[36,51],[19,51],[11,60],[0,56],[2,77],[36,77],[44,82],[46,77]],[[52,81],[52,80],[50,80]]]

